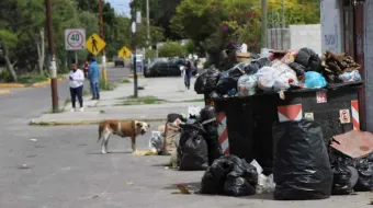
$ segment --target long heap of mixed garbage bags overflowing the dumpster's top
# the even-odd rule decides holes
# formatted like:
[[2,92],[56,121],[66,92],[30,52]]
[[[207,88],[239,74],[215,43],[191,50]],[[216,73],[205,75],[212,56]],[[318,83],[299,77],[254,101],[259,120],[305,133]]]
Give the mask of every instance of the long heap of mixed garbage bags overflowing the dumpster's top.
[[320,89],[328,83],[361,81],[359,68],[351,57],[330,51],[326,51],[324,59],[309,48],[272,51],[270,57],[240,62],[224,72],[211,66],[196,79],[194,90],[216,97]]

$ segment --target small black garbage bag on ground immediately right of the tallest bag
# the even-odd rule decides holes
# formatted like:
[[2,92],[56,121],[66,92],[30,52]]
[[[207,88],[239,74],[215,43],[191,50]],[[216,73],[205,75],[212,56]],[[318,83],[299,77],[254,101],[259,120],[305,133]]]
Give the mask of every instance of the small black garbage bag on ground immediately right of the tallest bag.
[[353,193],[353,184],[351,184],[352,173],[343,162],[342,158],[338,158],[331,164],[334,178],[332,178],[332,195],[350,195]]

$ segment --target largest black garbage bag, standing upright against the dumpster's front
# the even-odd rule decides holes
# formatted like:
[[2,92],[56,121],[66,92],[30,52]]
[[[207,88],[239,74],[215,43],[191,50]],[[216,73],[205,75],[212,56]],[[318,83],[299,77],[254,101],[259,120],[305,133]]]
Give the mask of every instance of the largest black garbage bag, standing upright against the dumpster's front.
[[272,132],[274,198],[329,198],[332,171],[320,125],[307,119],[276,123]]

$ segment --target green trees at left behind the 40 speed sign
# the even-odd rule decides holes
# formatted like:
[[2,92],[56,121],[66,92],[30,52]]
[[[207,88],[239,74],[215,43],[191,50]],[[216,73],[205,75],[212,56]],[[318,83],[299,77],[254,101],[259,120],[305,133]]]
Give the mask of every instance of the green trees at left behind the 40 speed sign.
[[[99,4],[97,0],[50,0],[55,56],[61,72],[75,59],[74,51],[65,49],[65,28],[86,28],[87,36],[100,34]],[[103,5],[104,41],[109,58],[123,46],[129,46],[129,19],[118,16],[109,2]],[[0,1],[0,59],[11,80],[18,76],[43,71],[47,66],[47,31],[44,0]],[[80,63],[87,50],[79,50]],[[0,80],[1,80],[0,74]]]

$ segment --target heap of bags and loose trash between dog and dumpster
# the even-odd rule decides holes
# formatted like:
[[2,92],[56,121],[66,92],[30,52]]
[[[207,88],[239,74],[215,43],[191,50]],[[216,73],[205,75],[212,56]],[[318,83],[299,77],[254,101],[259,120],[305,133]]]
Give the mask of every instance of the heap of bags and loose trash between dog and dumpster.
[[223,155],[218,141],[215,108],[189,107],[187,117],[169,114],[166,125],[152,131],[149,150],[171,155],[170,164],[179,171],[206,170]]

